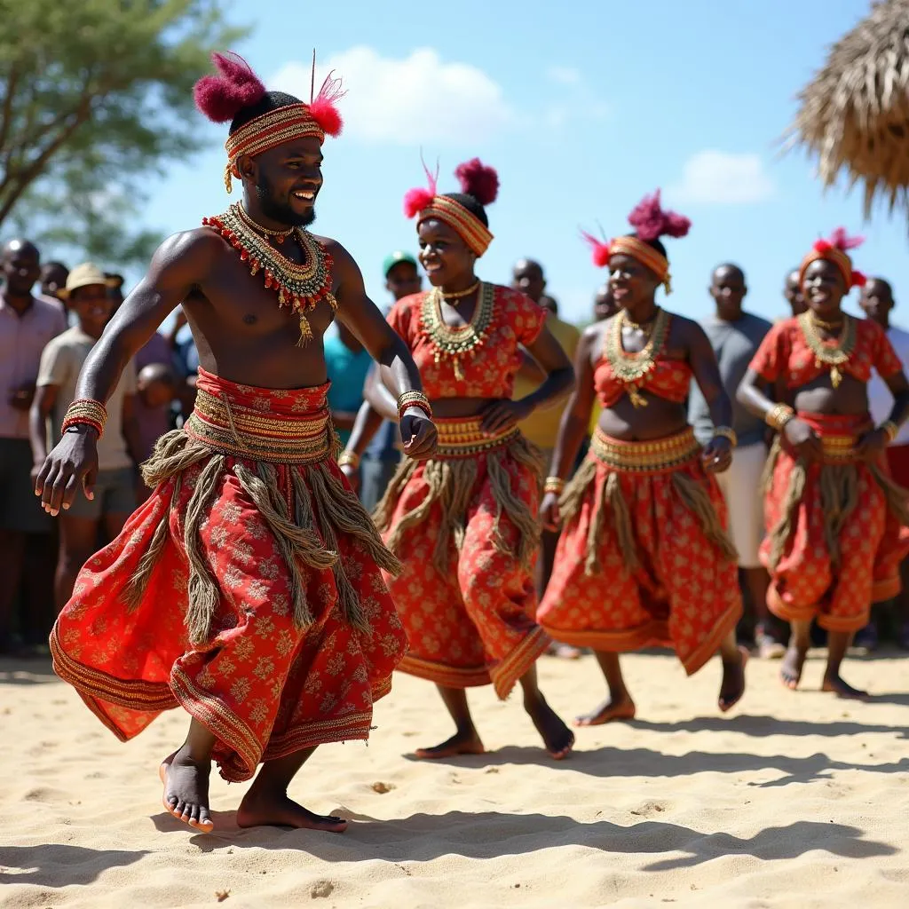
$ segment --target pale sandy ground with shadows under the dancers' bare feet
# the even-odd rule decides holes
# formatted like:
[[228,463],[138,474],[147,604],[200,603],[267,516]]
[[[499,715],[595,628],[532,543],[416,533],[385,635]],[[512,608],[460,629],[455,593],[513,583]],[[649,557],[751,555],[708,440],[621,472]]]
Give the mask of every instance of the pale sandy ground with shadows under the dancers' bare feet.
[[[361,743],[327,745],[292,794],[346,834],[241,831],[245,785],[217,779],[215,834],[160,806],[159,760],[185,717],[119,744],[44,664],[0,662],[0,905],[9,907],[869,906],[909,904],[909,659],[850,661],[879,695],[784,691],[752,660],[734,714],[719,665],[685,680],[669,656],[625,660],[633,724],[578,734],[554,764],[520,698],[472,695],[494,754],[418,763],[449,734],[430,684],[400,676]],[[602,680],[590,657],[544,658],[564,714]]]

